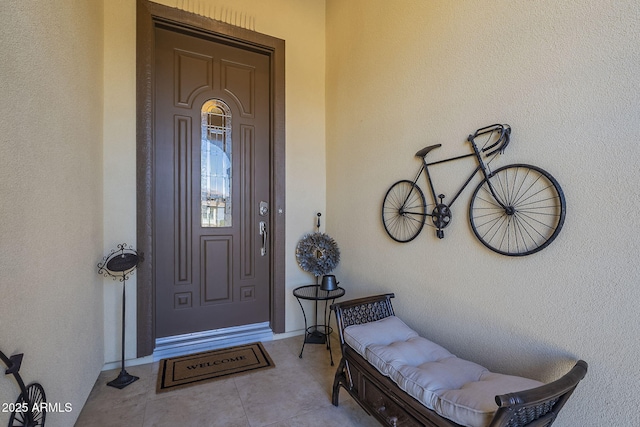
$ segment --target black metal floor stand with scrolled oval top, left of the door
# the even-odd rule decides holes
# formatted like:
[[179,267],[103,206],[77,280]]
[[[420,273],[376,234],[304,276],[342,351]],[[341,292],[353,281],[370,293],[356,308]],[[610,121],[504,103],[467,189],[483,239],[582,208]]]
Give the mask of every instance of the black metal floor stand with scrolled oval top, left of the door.
[[125,343],[125,315],[126,315],[126,286],[127,278],[133,274],[134,270],[138,267],[138,264],[142,262],[142,257],[132,248],[127,247],[126,243],[118,245],[117,249],[114,249],[105,256],[100,264],[98,264],[98,273],[105,276],[111,276],[116,279],[120,279],[122,282],[122,359],[120,375],[113,381],[107,383],[108,386],[123,389],[129,384],[137,381],[139,377],[129,374],[124,369],[124,343]]

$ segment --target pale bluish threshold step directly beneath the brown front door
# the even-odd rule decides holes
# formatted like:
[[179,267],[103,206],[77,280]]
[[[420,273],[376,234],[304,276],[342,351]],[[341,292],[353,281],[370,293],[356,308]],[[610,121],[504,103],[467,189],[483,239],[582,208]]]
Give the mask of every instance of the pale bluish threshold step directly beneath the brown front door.
[[201,351],[233,347],[235,345],[250,344],[257,341],[272,340],[273,331],[269,327],[269,322],[174,335],[156,339],[153,361]]

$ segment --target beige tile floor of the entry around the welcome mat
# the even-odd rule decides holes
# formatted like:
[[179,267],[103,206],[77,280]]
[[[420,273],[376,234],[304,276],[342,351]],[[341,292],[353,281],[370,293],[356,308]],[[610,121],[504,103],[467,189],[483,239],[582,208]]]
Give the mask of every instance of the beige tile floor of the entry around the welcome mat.
[[340,406],[331,404],[340,358],[336,341],[336,366],[330,365],[326,346],[319,344],[307,344],[300,359],[302,336],[263,344],[274,369],[161,394],[155,391],[158,363],[127,367],[140,379],[122,390],[106,385],[119,369],[101,372],[76,426],[379,426],[344,389]]

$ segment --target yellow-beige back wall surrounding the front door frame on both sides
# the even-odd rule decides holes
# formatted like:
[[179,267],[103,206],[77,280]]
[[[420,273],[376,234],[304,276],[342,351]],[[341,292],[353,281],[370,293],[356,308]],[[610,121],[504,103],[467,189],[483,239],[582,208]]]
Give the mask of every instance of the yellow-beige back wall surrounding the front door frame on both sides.
[[[297,0],[160,0],[232,25],[285,40],[286,87],[286,331],[303,329],[291,291],[312,277],[298,268],[295,246],[325,215],[325,5]],[[135,245],[135,0],[105,2],[105,250]],[[323,226],[324,230],[324,226]],[[135,323],[135,276],[127,293]],[[127,285],[129,286],[129,285]],[[120,290],[105,292],[105,362],[120,358]],[[127,359],[135,358],[135,330],[127,330]]]

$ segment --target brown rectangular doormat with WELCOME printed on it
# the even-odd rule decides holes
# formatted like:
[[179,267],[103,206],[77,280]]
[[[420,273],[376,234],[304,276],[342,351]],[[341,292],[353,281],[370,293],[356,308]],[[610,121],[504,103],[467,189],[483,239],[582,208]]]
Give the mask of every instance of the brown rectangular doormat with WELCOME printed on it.
[[275,366],[261,343],[163,359],[156,393]]

